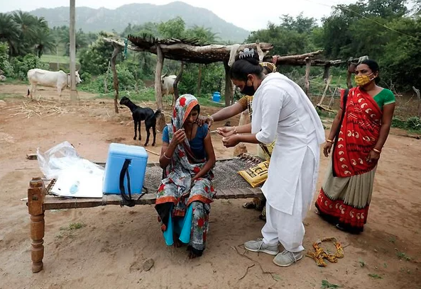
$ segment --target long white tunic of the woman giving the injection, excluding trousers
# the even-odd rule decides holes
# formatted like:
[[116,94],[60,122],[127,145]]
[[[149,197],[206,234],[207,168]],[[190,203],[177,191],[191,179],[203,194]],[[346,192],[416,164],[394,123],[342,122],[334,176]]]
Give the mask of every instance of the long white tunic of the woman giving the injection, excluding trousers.
[[[276,137],[270,157],[268,179],[262,187],[270,206],[292,215],[297,184],[307,148],[315,157],[312,193],[319,168],[319,144],[324,142],[322,121],[300,86],[282,74],[272,73],[263,79],[253,97],[251,132],[263,144]],[[305,195],[308,193],[305,192]],[[303,200],[307,203],[307,200]],[[305,210],[305,208],[302,208]]]

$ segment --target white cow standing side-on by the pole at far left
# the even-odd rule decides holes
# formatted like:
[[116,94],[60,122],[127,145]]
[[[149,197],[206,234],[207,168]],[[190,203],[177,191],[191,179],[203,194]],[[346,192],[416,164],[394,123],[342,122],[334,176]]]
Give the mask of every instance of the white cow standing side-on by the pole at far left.
[[[75,73],[76,77],[76,84],[80,84],[82,79],[80,79],[79,72]],[[28,80],[31,84],[31,91],[28,89],[28,95],[31,95],[31,99],[33,94],[35,94],[36,86],[48,86],[48,87],[56,87],[58,96],[61,97],[61,92],[66,87],[70,86],[70,73],[65,73],[62,70],[58,72],[50,72],[44,69],[29,69],[28,70]]]

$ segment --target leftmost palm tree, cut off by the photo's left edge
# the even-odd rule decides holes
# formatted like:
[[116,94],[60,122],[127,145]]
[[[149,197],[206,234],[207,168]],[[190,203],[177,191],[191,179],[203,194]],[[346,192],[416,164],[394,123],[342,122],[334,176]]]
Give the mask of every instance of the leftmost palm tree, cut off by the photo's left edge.
[[0,13],[0,41],[9,44],[9,54],[17,55],[19,46],[19,35],[21,30],[18,24],[13,21],[13,16]]

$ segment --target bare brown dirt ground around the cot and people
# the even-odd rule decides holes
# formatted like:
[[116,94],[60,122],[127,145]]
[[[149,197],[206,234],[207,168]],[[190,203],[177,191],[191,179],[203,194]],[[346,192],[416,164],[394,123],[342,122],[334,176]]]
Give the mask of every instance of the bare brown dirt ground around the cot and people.
[[[266,254],[241,256],[234,247],[259,237],[263,222],[256,210],[241,208],[244,200],[216,200],[207,249],[194,260],[185,249],[165,246],[153,206],[46,211],[44,270],[32,273],[29,215],[20,199],[40,170],[26,154],[67,140],[83,157],[104,162],[111,142],[139,142],[133,140],[129,110],[115,115],[110,100],[80,93],[81,103],[71,106],[69,91],[60,104],[55,91],[45,89],[37,93],[38,105],[23,97],[23,85],[0,85],[2,94],[15,97],[4,98],[6,107],[0,108],[0,288],[322,288],[322,280],[344,288],[421,288],[421,140],[400,137],[398,130],[383,149],[363,234],[346,234],[320,220],[313,208],[308,212],[306,250],[320,237],[336,237],[345,246],[344,259],[325,268],[307,257],[280,268]],[[160,137],[148,149],[159,152]],[[231,156],[233,149],[224,148],[219,136],[212,139],[217,157]],[[149,162],[157,159],[150,154]],[[318,189],[327,164],[322,157]],[[71,223],[84,226],[69,229]],[[150,258],[153,268],[143,271]]]

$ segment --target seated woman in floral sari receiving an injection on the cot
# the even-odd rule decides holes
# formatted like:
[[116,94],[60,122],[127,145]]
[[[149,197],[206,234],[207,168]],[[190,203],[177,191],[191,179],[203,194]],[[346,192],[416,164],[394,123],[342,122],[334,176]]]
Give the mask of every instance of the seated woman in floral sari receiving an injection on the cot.
[[214,196],[215,153],[207,125],[197,125],[199,113],[195,96],[185,94],[175,102],[171,124],[163,130],[159,162],[166,176],[155,203],[165,243],[188,244],[190,258],[204,251]]

